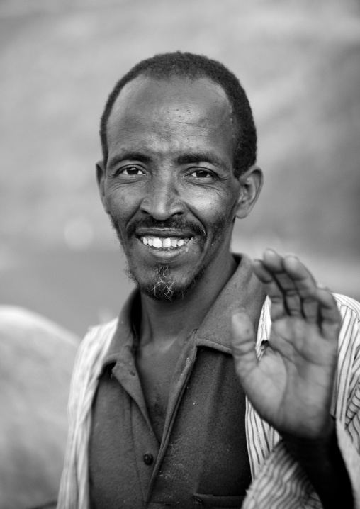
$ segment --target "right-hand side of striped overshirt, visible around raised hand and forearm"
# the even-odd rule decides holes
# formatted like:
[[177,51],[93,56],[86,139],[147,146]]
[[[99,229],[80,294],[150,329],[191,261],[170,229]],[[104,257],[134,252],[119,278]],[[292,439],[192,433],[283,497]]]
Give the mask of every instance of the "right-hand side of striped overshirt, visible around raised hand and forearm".
[[[342,315],[342,327],[331,413],[351,482],[354,509],[360,509],[360,304],[345,296],[334,297]],[[266,340],[271,330],[269,309],[265,310],[261,327],[259,338]],[[261,348],[260,341],[257,346]],[[261,420],[251,403],[247,404],[248,449],[254,477],[243,509],[321,509],[320,498],[281,437]]]

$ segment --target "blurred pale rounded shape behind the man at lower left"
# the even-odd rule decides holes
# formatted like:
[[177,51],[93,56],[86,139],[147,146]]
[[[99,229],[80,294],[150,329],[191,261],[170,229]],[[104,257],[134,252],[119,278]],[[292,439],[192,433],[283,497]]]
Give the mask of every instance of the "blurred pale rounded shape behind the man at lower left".
[[[55,500],[80,338],[45,316],[0,306],[0,508]],[[16,366],[16,369],[13,369]]]

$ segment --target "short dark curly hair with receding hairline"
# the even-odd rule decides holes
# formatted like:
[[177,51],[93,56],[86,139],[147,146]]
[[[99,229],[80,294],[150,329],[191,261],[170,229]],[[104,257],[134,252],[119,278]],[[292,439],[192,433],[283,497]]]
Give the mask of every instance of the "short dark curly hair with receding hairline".
[[174,76],[199,79],[208,78],[219,84],[232,109],[232,123],[234,129],[234,173],[239,177],[246,172],[257,159],[257,130],[252,116],[247,94],[239,80],[225,65],[211,60],[203,55],[193,53],[162,53],[152,58],[142,60],[125,74],[114,86],[108,96],[100,123],[101,148],[103,162],[108,160],[107,125],[113,104],[115,103],[123,86],[140,75],[154,79],[169,79]]

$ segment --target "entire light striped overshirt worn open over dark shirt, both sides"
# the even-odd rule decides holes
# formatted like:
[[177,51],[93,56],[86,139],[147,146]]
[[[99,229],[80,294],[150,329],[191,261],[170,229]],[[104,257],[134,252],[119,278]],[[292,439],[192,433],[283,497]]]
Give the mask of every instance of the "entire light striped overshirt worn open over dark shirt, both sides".
[[[331,413],[351,481],[354,508],[360,509],[360,304],[345,296],[334,297],[342,315],[342,328]],[[57,509],[89,509],[91,403],[117,321],[91,329],[79,347],[70,387],[69,437]],[[270,330],[270,301],[266,298],[257,331],[259,358],[264,342],[269,341]],[[245,424],[253,481],[243,509],[320,509],[320,499],[300,464],[248,400]]]

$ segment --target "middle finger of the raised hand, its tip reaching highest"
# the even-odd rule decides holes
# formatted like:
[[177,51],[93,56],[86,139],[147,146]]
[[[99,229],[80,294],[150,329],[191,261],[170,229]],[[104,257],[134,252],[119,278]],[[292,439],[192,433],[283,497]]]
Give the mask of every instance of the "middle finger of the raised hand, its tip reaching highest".
[[278,283],[285,298],[286,309],[289,315],[298,316],[302,313],[301,299],[291,276],[286,272],[283,266],[283,257],[276,251],[267,249],[264,251],[264,265]]

